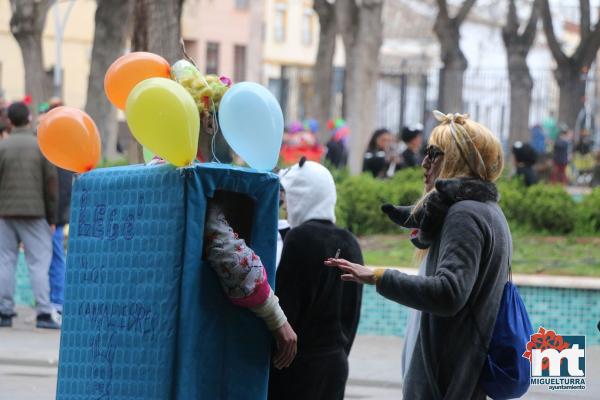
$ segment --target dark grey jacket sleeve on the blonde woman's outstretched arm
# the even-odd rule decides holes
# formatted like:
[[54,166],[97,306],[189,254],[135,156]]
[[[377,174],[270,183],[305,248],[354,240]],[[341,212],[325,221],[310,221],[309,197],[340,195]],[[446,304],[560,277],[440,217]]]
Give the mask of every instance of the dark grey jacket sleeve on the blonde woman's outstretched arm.
[[466,304],[477,279],[483,243],[484,234],[471,213],[450,212],[441,232],[435,275],[411,276],[387,270],[377,291],[417,310],[454,316]]

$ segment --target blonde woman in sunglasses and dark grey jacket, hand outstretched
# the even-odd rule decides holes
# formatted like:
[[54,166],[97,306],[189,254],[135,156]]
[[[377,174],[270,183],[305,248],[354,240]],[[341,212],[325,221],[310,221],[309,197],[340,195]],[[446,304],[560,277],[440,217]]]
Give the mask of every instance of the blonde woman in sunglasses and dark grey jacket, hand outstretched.
[[341,269],[342,280],[376,285],[382,296],[417,310],[405,338],[405,399],[485,399],[478,380],[512,252],[494,185],[502,147],[466,115],[434,115],[439,125],[422,163],[425,195],[414,207],[382,207],[415,229],[413,243],[424,253],[421,274],[344,259],[325,264]]

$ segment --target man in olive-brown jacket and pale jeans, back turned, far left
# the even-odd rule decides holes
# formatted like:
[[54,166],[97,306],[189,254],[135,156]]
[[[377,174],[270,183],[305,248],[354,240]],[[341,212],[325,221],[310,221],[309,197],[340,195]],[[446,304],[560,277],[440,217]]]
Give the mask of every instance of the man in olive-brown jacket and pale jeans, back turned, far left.
[[19,243],[25,247],[38,328],[59,329],[50,304],[48,270],[57,209],[57,173],[42,155],[31,128],[29,108],[12,103],[14,127],[0,142],[0,327],[12,326]]

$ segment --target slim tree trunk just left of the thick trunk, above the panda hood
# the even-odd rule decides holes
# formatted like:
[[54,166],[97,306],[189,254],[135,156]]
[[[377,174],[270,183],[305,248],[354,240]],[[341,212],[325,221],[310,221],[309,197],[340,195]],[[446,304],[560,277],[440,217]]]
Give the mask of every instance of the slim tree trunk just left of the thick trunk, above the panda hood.
[[327,0],[315,0],[313,5],[319,16],[319,49],[313,67],[314,97],[311,115],[319,121],[319,140],[329,140],[327,120],[331,117],[333,56],[335,53],[335,8]]

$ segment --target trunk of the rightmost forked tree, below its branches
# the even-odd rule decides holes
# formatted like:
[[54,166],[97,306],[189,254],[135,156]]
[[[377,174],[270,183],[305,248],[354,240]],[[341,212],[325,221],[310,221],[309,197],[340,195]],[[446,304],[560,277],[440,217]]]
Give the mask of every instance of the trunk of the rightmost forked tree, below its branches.
[[577,65],[559,65],[555,75],[560,89],[558,120],[574,129],[577,114],[584,104],[586,82],[583,73]]

